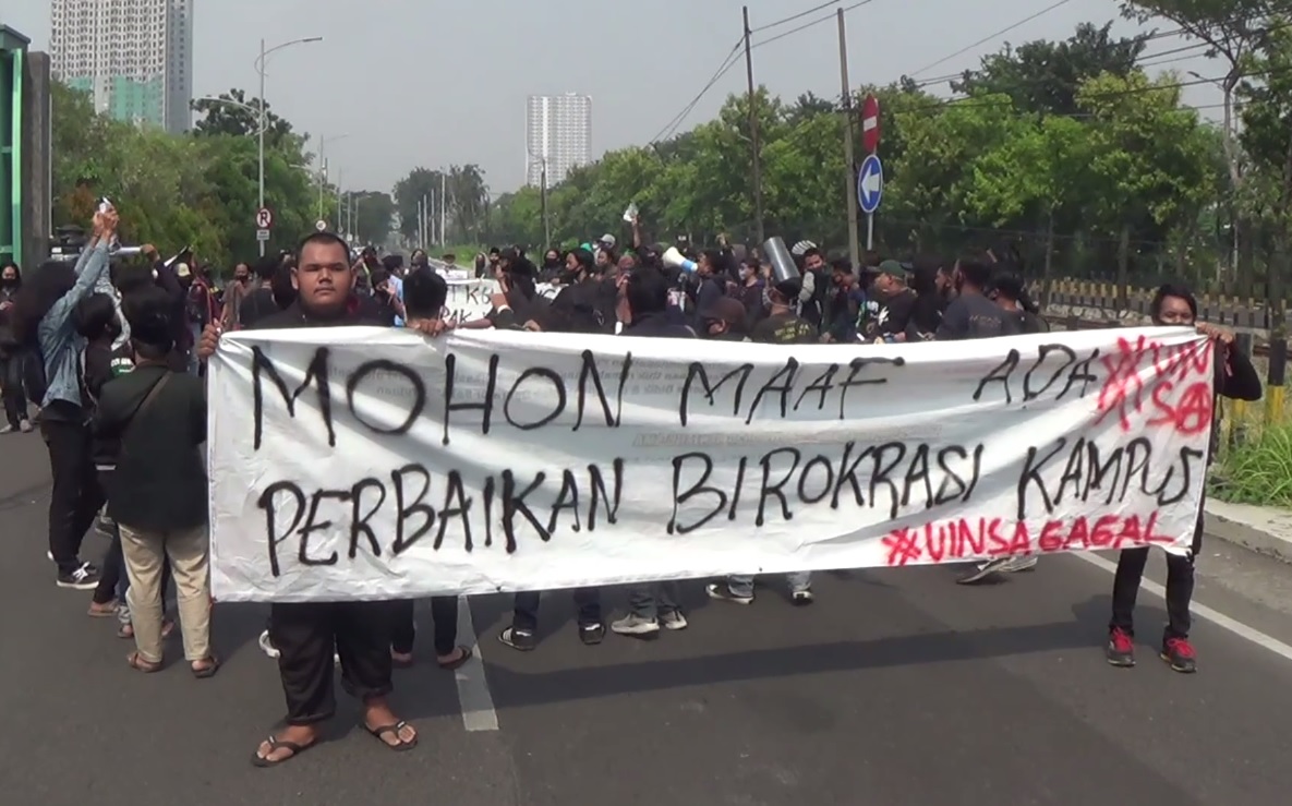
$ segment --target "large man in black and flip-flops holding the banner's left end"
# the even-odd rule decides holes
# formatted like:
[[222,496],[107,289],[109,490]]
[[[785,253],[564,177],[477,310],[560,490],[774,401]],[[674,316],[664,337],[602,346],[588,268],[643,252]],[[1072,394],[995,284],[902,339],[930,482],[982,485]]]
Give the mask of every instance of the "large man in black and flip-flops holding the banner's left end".
[[[292,284],[298,297],[287,310],[257,322],[257,329],[346,327],[375,324],[351,310],[350,294],[358,265],[350,264],[346,243],[331,232],[310,235],[297,251]],[[434,335],[438,320],[417,323]],[[220,333],[203,332],[199,354],[216,351]],[[341,685],[363,700],[363,725],[386,747],[407,750],[417,731],[399,719],[386,698],[393,690],[390,659],[390,602],[305,602],[270,606],[270,634],[278,650],[278,670],[287,699],[287,727],[260,744],[252,763],[283,763],[319,741],[319,723],[336,713],[332,690],[333,650],[341,661]]]

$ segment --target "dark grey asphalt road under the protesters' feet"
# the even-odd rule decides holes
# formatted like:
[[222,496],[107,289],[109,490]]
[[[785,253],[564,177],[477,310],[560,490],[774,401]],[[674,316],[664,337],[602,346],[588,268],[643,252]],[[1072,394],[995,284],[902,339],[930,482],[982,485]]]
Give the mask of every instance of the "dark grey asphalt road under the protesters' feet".
[[[1140,665],[1103,661],[1111,575],[1080,558],[986,588],[946,568],[827,574],[806,610],[774,586],[751,607],[711,603],[696,584],[689,630],[599,647],[553,594],[528,655],[495,638],[506,602],[482,598],[483,666],[397,673],[417,749],[384,750],[344,701],[329,741],[257,770],[283,710],[255,643],[264,608],[217,607],[227,664],[212,681],[190,677],[177,642],[164,672],[129,670],[115,623],[54,588],[44,446],[0,437],[0,803],[1288,802],[1292,567],[1218,542],[1198,599],[1231,621],[1199,619],[1191,677],[1156,659],[1164,611],[1147,592]],[[92,535],[87,555],[105,544]],[[1239,634],[1253,629],[1275,643]]]

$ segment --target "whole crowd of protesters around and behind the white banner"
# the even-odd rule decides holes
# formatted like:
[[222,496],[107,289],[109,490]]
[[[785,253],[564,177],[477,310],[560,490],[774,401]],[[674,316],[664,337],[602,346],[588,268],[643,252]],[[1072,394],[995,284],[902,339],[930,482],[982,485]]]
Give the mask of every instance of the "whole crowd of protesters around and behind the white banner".
[[[407,266],[373,248],[354,254],[339,236],[317,232],[289,254],[238,265],[220,292],[191,251],[162,260],[145,247],[145,262],[115,261],[118,223],[115,211],[97,213],[75,265],[48,262],[26,280],[17,266],[3,267],[6,430],[39,424],[48,447],[48,555],[58,586],[93,590],[89,615],[115,619],[118,634],[134,642],[129,664],[145,673],[163,668],[165,637],[174,628],[165,599],[173,589],[185,659],[195,677],[208,678],[220,659],[209,629],[200,376],[221,335],[372,326],[437,337],[455,327],[443,318],[446,275],[465,278],[472,269],[459,269],[452,256],[433,267],[420,249]],[[1028,298],[1023,267],[990,252],[910,261],[868,253],[853,266],[800,242],[789,249],[793,271],[778,271],[756,249],[722,239],[698,253],[645,244],[636,222],[632,247],[616,245],[605,235],[567,251],[549,248],[537,265],[519,247],[477,256],[475,276],[496,280],[496,293],[487,314],[456,327],[770,345],[991,338],[1047,329]],[[1199,324],[1186,288],[1163,285],[1151,311],[1158,324],[1195,326],[1214,340],[1217,394],[1260,398],[1251,363],[1229,349],[1233,335]],[[92,527],[111,540],[101,563],[84,558]],[[1162,654],[1181,672],[1195,668],[1189,603],[1200,536],[1199,521],[1193,553],[1168,558],[1171,621]],[[1118,566],[1106,647],[1115,665],[1134,661],[1132,610],[1146,555],[1147,549],[1123,552]],[[1035,557],[999,558],[974,563],[961,581],[1032,567]],[[810,575],[787,576],[788,599],[813,603]],[[751,576],[712,580],[705,589],[731,603],[755,598]],[[609,625],[598,589],[575,590],[572,598],[587,645],[599,643],[607,626],[636,638],[687,626],[676,583],[629,586],[628,612]],[[499,641],[519,651],[536,648],[539,599],[537,593],[514,597],[512,621]],[[434,598],[432,619],[435,664],[461,666],[473,652],[459,645],[457,599]],[[346,691],[363,701],[364,727],[393,750],[415,747],[416,730],[389,703],[391,669],[413,663],[415,636],[412,602],[273,604],[260,643],[278,659],[288,717],[283,730],[260,744],[253,763],[286,762],[319,740],[319,723],[335,713],[335,664]]]

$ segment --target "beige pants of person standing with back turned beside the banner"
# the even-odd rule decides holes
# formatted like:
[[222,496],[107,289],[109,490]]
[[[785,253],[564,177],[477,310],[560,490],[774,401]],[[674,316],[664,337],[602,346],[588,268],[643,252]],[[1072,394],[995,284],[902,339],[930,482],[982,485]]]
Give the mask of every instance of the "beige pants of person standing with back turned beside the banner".
[[130,589],[125,601],[130,606],[134,646],[143,660],[162,660],[162,563],[171,558],[180,630],[183,633],[183,656],[189,661],[211,657],[211,568],[207,527],[177,532],[142,532],[124,523],[121,553]]

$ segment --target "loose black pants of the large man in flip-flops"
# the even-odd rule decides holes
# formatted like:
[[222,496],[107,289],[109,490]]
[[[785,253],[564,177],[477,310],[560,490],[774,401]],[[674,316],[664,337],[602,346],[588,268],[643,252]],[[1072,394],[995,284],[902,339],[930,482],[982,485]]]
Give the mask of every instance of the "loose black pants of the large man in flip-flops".
[[341,687],[351,696],[390,694],[389,602],[273,604],[269,619],[288,725],[314,725],[336,713],[333,652],[341,656]]

